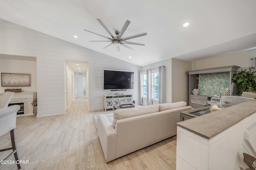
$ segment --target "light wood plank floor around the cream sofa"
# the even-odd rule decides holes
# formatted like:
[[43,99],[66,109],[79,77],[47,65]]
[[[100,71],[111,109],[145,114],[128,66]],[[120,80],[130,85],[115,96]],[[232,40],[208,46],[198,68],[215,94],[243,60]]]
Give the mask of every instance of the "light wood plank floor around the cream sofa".
[[[106,164],[94,115],[111,110],[88,111],[86,100],[72,103],[65,115],[17,117],[16,138],[22,170],[175,170],[176,136]],[[0,148],[10,147],[9,133],[0,137]],[[10,151],[0,152],[0,160]],[[12,156],[9,160],[15,160]],[[16,170],[16,164],[0,170]]]

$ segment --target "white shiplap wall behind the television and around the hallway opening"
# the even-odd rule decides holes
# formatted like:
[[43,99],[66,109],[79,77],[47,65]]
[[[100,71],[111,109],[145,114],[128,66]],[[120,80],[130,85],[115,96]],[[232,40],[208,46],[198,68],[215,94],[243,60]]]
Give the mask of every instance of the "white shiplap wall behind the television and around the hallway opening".
[[68,43],[0,19],[0,54],[36,57],[38,117],[65,113],[65,60],[88,62],[89,110],[103,108],[103,70],[134,72],[134,89],[124,91],[138,101],[140,66]]

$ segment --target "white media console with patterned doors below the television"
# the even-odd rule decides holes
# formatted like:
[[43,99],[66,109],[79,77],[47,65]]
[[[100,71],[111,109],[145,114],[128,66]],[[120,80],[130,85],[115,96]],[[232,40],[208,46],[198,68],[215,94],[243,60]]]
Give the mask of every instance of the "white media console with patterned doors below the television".
[[113,105],[132,103],[132,94],[108,94],[104,95],[104,109],[113,109]]

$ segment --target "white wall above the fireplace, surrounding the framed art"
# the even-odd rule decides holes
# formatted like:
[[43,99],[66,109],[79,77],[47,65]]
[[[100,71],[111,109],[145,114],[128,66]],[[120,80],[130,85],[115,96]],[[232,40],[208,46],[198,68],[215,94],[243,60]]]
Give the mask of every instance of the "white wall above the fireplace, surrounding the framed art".
[[[4,56],[4,55],[3,55]],[[8,57],[8,55],[4,56]],[[4,93],[7,88],[21,88],[22,92],[36,92],[36,61],[25,60],[10,60],[0,59],[1,73],[29,73],[31,74],[30,87],[2,87],[0,86],[0,93]],[[1,84],[1,79],[0,79]]]

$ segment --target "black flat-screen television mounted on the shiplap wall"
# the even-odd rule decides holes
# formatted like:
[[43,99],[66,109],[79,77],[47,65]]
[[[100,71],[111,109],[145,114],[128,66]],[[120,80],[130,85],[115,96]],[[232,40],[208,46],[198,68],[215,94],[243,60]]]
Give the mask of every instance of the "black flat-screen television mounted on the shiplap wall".
[[104,89],[133,89],[134,72],[104,70]]

